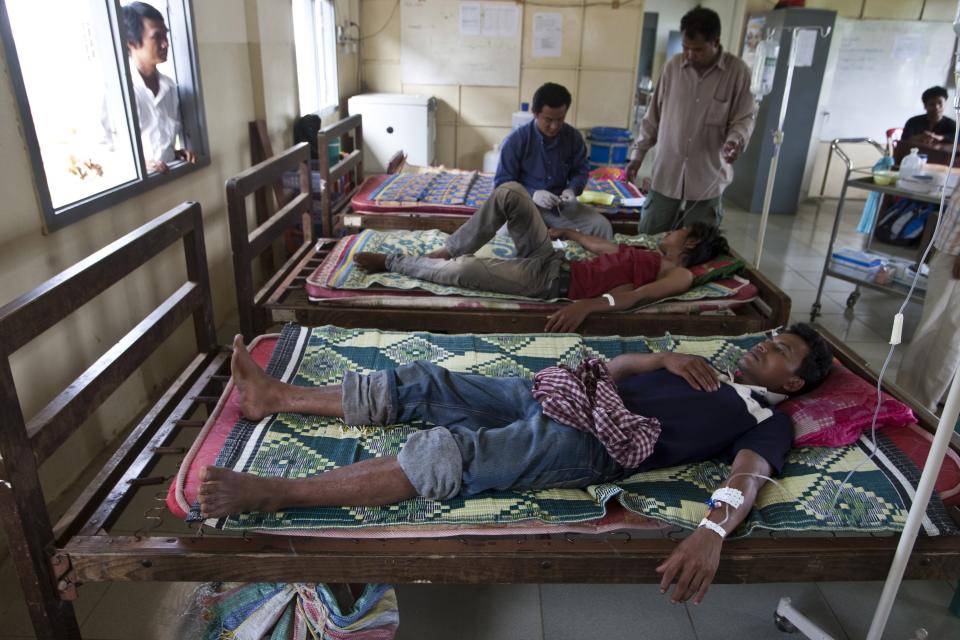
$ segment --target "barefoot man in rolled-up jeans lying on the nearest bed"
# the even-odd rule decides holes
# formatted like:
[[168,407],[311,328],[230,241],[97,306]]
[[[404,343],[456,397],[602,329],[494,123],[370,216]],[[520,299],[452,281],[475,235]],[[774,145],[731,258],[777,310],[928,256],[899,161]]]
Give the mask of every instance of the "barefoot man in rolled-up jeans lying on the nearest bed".
[[[763,476],[778,473],[790,449],[790,419],[772,405],[818,385],[831,362],[826,341],[799,324],[744,354],[731,374],[698,356],[637,353],[607,365],[588,360],[576,372],[551,367],[534,381],[414,362],[366,376],[349,372],[341,385],[296,387],[268,377],[237,336],[231,364],[247,418],[288,411],[350,425],[420,420],[443,426],[414,432],[398,456],[312,478],[204,467],[200,510],[219,518],[388,505],[415,496],[442,500],[489,489],[586,487],[638,471],[732,458],[724,486],[736,489],[742,504],[724,498],[726,505],[711,511],[657,568],[662,591],[676,579],[674,602],[693,597],[699,603],[716,573],[723,537],[746,517]],[[583,386],[577,390],[573,374],[592,399]]]

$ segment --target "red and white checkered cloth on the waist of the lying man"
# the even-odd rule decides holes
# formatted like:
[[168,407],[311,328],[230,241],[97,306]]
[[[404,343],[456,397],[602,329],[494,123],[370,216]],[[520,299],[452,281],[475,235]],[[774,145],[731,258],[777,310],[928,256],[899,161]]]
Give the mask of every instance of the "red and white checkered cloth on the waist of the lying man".
[[575,370],[561,365],[540,371],[533,377],[533,397],[544,415],[595,435],[625,469],[639,467],[660,437],[660,421],[627,410],[599,358]]

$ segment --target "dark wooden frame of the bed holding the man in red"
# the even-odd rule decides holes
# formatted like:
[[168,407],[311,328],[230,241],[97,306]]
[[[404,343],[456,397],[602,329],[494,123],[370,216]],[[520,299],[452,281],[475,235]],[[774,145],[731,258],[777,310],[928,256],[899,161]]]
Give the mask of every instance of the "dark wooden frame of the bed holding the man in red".
[[[349,131],[350,120],[329,128],[340,135]],[[321,147],[326,139],[321,134]],[[354,150],[325,175],[326,184],[346,172],[362,166],[360,152]],[[266,278],[259,290],[253,285],[253,263],[274,240],[281,238],[294,223],[295,217],[279,213],[248,231],[250,215],[248,196],[271,188],[276,176],[287,171],[304,171],[308,159],[306,143],[293,147],[247,169],[227,181],[227,205],[230,238],[233,244],[233,268],[237,287],[240,329],[247,340],[267,331],[277,323],[298,322],[318,326],[336,324],[343,327],[396,329],[436,332],[517,332],[535,333],[546,323],[544,312],[484,309],[403,309],[358,306],[337,306],[336,302],[313,303],[307,298],[304,283],[323,261],[333,240],[317,242],[304,234],[303,244],[289,260]],[[321,161],[323,162],[323,161]],[[301,175],[301,185],[305,177]],[[307,185],[309,189],[309,185]],[[301,191],[301,196],[303,195]],[[327,200],[325,200],[326,202]],[[349,203],[349,197],[338,197]],[[289,207],[289,205],[288,205]],[[394,216],[392,220],[409,220]],[[331,223],[332,224],[332,223]],[[326,225],[324,225],[326,226]],[[753,267],[746,267],[746,277],[759,289],[758,300],[736,310],[732,316],[699,316],[680,313],[595,313],[580,328],[588,335],[738,335],[772,329],[790,320],[790,298]]]

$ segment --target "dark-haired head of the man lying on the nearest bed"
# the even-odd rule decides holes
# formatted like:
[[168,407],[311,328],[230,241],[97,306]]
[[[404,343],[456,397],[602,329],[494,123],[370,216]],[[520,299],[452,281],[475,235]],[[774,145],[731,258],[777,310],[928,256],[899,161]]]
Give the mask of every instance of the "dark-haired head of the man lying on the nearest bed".
[[812,391],[830,373],[830,345],[808,324],[795,324],[743,354],[740,379],[771,391],[797,395]]

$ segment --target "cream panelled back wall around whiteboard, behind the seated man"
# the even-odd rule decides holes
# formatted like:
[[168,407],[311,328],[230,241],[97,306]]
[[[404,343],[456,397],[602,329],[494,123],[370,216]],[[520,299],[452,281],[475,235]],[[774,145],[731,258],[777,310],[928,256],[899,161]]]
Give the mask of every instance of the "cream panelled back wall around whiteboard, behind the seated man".
[[[456,0],[449,0],[455,2]],[[362,91],[436,96],[440,164],[479,169],[483,154],[510,132],[510,114],[542,83],[573,94],[567,121],[579,128],[626,127],[633,106],[643,2],[611,6],[585,0],[540,0],[524,5],[519,87],[411,85],[401,81],[400,9],[397,0],[360,0]],[[396,8],[396,10],[394,10]],[[533,14],[563,14],[562,55],[534,58]],[[376,37],[372,37],[377,33]]]

